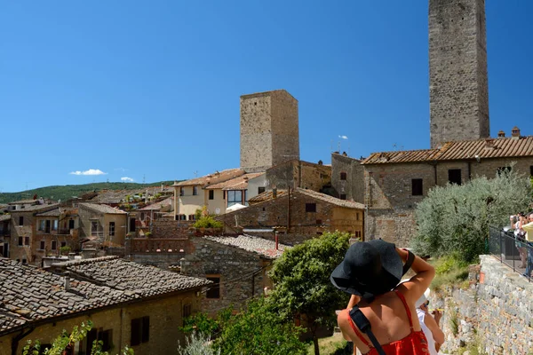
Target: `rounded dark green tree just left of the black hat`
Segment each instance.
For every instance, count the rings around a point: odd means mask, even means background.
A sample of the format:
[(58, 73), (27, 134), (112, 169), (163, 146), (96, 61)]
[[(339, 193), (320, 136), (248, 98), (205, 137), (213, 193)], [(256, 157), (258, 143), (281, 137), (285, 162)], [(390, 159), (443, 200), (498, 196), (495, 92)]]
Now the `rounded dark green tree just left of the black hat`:
[(319, 327), (334, 327), (335, 310), (346, 307), (346, 293), (330, 283), (330, 273), (343, 260), (349, 247), (348, 233), (325, 233), (286, 250), (269, 272), (274, 291), (269, 304), (282, 319), (301, 319), (313, 335), (314, 353), (319, 354)]

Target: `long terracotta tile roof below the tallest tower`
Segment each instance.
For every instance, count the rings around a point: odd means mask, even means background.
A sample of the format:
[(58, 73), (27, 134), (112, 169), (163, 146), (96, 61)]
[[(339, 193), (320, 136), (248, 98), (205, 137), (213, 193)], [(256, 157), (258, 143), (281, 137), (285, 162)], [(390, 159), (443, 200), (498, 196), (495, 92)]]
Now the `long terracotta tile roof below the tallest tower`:
[(533, 136), (484, 138), (445, 143), (441, 148), (372, 153), (362, 164), (456, 161), (533, 156)]

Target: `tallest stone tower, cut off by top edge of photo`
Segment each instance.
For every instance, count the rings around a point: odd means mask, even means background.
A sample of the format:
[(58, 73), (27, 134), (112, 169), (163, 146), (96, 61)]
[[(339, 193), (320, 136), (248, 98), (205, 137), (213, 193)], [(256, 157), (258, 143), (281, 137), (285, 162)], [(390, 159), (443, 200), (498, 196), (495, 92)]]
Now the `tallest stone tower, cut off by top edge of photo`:
[(485, 0), (429, 0), (431, 147), (488, 138)]

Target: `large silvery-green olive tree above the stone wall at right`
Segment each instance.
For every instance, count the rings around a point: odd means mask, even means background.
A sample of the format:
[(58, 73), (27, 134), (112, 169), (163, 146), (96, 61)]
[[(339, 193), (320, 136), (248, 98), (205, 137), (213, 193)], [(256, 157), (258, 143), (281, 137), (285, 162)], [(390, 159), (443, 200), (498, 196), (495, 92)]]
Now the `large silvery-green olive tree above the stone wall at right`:
[(513, 169), (464, 185), (436, 186), (418, 203), (411, 246), (419, 254), (472, 262), (486, 252), (489, 225), (501, 228), (509, 224), (510, 215), (526, 211), (531, 192), (529, 177)]

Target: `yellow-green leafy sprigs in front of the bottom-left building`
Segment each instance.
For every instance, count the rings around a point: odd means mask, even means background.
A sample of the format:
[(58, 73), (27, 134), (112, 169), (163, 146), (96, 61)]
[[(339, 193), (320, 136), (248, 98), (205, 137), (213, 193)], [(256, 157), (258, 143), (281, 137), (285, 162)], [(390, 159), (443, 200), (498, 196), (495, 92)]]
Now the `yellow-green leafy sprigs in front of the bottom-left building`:
[[(74, 326), (70, 333), (67, 333), (67, 331), (63, 329), (61, 334), (55, 338), (51, 347), (45, 349), (41, 348), (41, 343), (38, 340), (35, 342), (28, 340), (26, 346), (24, 346), (22, 355), (62, 355), (64, 351), (72, 348), (75, 343), (82, 341), (87, 336), (87, 333), (89, 333), (91, 328), (92, 322), (91, 320), (87, 320), (87, 323), (83, 322), (79, 327)], [(92, 343), (91, 355), (109, 355), (107, 351), (102, 351), (102, 345), (102, 341), (95, 340)], [(121, 355), (133, 354), (133, 349), (131, 349), (128, 345), (124, 346), (123, 350), (121, 351)]]

